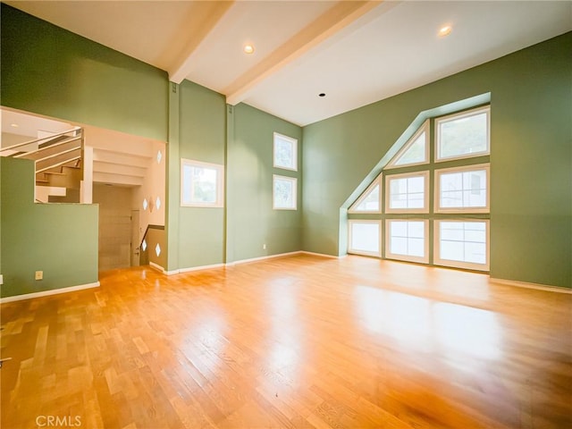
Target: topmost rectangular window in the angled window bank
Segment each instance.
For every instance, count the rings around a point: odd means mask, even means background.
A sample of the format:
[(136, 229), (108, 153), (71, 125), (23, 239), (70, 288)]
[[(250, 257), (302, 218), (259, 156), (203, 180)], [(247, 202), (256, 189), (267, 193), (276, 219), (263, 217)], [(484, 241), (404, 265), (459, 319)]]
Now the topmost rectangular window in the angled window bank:
[(437, 161), (484, 156), (490, 153), (489, 106), (435, 120)]

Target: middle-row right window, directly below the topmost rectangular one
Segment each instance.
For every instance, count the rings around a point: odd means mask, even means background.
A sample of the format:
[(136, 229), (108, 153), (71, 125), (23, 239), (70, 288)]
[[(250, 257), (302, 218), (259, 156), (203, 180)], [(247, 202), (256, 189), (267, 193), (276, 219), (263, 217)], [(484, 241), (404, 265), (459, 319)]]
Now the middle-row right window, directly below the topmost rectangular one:
[(489, 164), (435, 171), (435, 212), (488, 213)]

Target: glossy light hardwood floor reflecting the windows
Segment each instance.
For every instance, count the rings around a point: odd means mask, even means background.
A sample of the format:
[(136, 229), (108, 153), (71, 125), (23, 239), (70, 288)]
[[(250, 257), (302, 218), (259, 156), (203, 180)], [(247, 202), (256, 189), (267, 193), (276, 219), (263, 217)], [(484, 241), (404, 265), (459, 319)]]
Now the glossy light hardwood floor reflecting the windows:
[(307, 255), (100, 282), (2, 305), (4, 429), (572, 427), (569, 294)]

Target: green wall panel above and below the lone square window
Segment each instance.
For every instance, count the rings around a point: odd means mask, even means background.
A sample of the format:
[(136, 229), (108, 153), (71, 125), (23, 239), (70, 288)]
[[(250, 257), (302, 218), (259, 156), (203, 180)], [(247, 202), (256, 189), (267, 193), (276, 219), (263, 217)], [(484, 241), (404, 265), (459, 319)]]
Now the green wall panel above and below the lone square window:
[[(221, 94), (183, 80), (179, 87), (179, 156), (204, 163), (224, 164), (226, 102)], [(171, 163), (170, 163), (171, 164)], [(180, 164), (177, 166), (180, 169)], [(178, 189), (181, 183), (170, 183)], [(179, 207), (178, 268), (224, 262), (224, 208)]]

